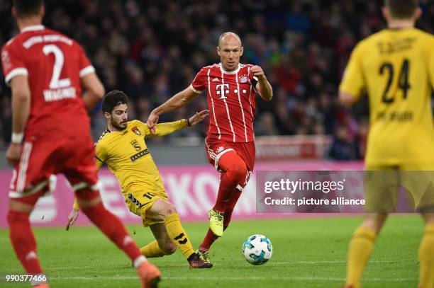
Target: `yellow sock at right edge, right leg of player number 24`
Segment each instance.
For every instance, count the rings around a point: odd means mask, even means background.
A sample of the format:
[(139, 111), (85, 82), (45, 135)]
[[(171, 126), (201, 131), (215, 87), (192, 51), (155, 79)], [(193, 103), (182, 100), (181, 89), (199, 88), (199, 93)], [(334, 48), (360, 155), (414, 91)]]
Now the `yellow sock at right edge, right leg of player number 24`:
[(434, 224), (425, 227), (419, 246), (419, 285), (421, 288), (434, 287)]

